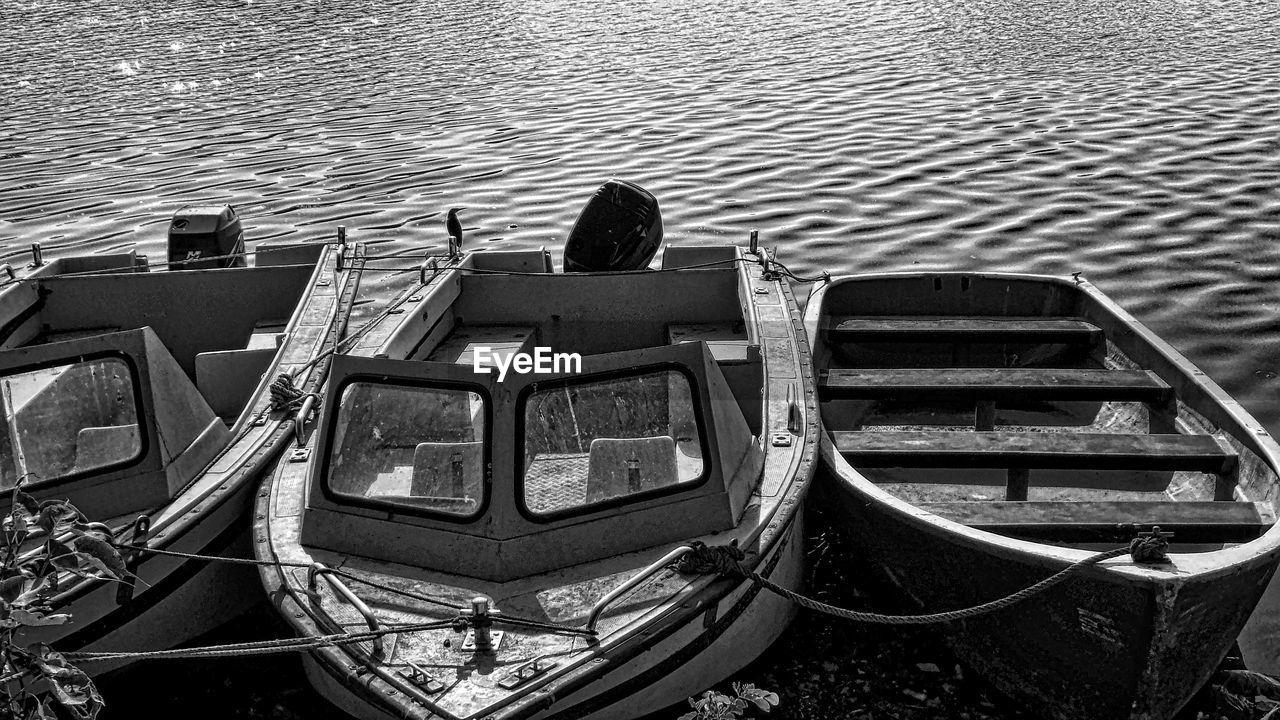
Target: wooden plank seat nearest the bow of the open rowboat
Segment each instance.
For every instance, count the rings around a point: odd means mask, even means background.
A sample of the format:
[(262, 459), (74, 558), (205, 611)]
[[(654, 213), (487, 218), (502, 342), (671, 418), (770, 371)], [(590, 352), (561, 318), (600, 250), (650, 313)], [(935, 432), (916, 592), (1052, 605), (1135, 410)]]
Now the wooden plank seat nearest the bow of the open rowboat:
[(995, 501), (916, 507), (978, 528), (1037, 541), (1126, 542), (1158, 525), (1174, 542), (1248, 542), (1275, 524), (1267, 502)]

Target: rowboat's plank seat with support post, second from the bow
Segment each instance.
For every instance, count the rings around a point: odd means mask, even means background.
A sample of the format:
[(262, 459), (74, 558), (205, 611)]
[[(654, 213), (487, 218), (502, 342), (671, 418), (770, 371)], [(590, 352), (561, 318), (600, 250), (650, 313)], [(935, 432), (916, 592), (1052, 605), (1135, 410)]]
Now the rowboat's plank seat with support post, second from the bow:
[(1215, 500), (1238, 455), (1213, 436), (945, 430), (835, 430), (836, 450), (861, 468), (1006, 468), (1007, 500), (1027, 500), (1032, 469), (1194, 470), (1219, 475)]

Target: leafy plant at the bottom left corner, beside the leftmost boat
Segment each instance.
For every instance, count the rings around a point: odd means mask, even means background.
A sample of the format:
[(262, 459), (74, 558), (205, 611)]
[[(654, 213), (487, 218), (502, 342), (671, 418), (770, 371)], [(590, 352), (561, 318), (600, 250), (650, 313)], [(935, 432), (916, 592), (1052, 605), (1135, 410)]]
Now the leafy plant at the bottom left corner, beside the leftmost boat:
[(70, 621), (51, 606), (65, 589), (64, 575), (128, 575), (110, 529), (65, 500), (37, 501), (15, 487), (0, 539), (0, 719), (93, 720), (102, 697), (90, 676), (49, 646), (23, 647), (18, 637), (27, 628)]

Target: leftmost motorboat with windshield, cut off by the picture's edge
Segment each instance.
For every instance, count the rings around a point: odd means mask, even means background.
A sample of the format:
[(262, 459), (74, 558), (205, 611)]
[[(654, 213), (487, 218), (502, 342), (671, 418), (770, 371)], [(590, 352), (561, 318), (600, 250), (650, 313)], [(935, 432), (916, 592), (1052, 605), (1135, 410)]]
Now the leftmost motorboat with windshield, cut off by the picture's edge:
[(157, 269), (129, 251), (4, 283), (0, 502), (20, 480), (137, 548), (123, 552), (124, 583), (63, 577), (50, 612), (70, 623), (24, 628), (23, 646), (164, 650), (261, 600), (252, 568), (160, 552), (251, 555), (253, 488), (298, 413), (273, 406), (271, 383), (288, 373), (300, 392), (319, 387), (348, 309), (340, 281), (358, 279), (338, 272), (339, 252), (261, 243), (250, 266)]

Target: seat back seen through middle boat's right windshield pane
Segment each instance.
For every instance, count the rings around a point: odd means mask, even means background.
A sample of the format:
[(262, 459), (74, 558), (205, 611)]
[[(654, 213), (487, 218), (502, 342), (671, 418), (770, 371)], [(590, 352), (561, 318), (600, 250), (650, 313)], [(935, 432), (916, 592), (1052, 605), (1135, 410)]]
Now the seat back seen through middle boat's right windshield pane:
[(671, 436), (595, 438), (588, 456), (586, 502), (600, 502), (678, 482)]

